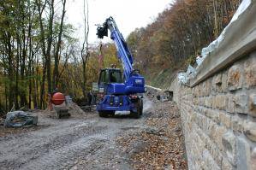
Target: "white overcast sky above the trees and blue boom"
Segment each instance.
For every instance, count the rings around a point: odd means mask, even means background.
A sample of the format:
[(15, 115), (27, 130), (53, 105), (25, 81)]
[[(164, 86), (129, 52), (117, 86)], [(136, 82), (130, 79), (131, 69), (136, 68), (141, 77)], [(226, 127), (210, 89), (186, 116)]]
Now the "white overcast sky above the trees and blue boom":
[[(172, 0), (88, 0), (89, 3), (89, 43), (99, 40), (96, 37), (97, 26), (106, 18), (113, 16), (124, 38), (136, 27), (151, 23), (158, 13), (169, 7)], [(83, 0), (67, 1), (66, 19), (78, 31), (77, 38), (82, 40), (83, 30)]]

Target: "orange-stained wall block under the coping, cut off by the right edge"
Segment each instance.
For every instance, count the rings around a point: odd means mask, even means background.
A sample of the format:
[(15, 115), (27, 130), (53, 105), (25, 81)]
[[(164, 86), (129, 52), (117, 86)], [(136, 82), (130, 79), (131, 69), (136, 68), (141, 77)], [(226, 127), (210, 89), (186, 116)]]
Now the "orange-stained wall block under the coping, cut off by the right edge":
[(247, 88), (256, 85), (256, 54), (254, 53), (245, 63), (245, 86)]

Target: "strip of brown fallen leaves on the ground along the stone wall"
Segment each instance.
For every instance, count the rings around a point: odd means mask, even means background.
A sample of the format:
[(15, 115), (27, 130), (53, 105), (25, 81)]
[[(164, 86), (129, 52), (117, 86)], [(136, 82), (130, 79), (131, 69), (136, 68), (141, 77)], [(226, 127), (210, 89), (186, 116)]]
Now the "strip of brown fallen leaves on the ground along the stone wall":
[(146, 129), (116, 138), (116, 143), (134, 169), (188, 169), (181, 123), (173, 103), (158, 103)]

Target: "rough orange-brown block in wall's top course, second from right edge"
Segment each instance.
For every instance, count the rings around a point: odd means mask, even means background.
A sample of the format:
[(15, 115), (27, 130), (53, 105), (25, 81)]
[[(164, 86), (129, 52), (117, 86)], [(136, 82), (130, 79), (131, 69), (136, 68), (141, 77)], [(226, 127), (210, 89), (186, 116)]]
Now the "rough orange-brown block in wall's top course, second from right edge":
[(235, 91), (242, 87), (242, 67), (241, 64), (233, 65), (229, 68), (228, 73), (228, 89), (229, 91)]

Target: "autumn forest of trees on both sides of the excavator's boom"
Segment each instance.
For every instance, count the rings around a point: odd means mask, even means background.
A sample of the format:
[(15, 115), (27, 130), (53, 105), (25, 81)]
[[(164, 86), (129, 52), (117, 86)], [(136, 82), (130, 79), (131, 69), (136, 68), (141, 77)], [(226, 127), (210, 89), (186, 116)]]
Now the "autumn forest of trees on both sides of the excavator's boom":
[[(118, 63), (114, 44), (90, 44), (88, 2), (83, 42), (66, 20), (67, 0), (0, 2), (0, 112), (45, 108), (54, 90), (85, 98), (98, 70)], [(150, 84), (165, 69), (194, 62), (229, 24), (239, 0), (176, 0), (146, 27), (127, 38), (136, 67)], [(95, 36), (96, 38), (96, 36)], [(101, 46), (99, 50), (99, 46)]]

